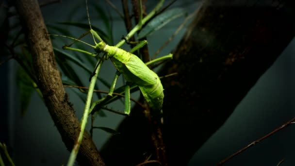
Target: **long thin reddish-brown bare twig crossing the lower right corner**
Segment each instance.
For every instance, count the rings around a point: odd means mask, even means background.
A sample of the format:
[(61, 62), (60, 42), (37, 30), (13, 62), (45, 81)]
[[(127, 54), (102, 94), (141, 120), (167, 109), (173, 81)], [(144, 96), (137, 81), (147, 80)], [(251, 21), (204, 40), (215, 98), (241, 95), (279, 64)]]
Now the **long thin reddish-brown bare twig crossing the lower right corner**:
[(245, 151), (246, 149), (252, 147), (253, 145), (259, 143), (260, 141), (262, 141), (263, 139), (269, 137), (270, 135), (274, 134), (274, 133), (277, 133), (279, 132), (279, 130), (283, 129), (284, 127), (288, 126), (289, 124), (292, 124), (293, 122), (295, 121), (295, 117), (292, 118), (290, 121), (288, 121), (287, 123), (281, 125), (278, 129), (262, 136), (261, 138), (259, 138), (258, 140), (256, 141), (253, 141), (251, 144), (247, 145), (246, 147), (244, 147), (243, 149), (240, 149), (239, 151), (235, 152), (234, 154), (230, 155), (229, 157), (227, 157), (226, 159), (222, 160), (221, 162), (219, 162), (216, 166), (221, 166), (223, 164), (225, 164), (227, 161), (229, 161), (229, 159), (233, 158), (234, 156), (242, 153), (243, 151)]

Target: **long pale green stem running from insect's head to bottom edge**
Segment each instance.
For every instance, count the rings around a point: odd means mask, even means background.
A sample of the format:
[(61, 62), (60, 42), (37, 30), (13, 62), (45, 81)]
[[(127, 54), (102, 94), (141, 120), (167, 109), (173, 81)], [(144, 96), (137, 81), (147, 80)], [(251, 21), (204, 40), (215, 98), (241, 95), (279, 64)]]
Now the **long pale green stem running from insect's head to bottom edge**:
[[(100, 61), (98, 61), (98, 63), (99, 62)], [(99, 73), (99, 70), (100, 70), (100, 66), (102, 65), (102, 63), (103, 63), (103, 61), (101, 61), (101, 63), (98, 65), (94, 76), (91, 78), (91, 82), (90, 82), (89, 90), (88, 90), (88, 94), (87, 94), (87, 99), (86, 99), (86, 103), (85, 103), (84, 113), (83, 113), (83, 117), (82, 117), (82, 120), (81, 120), (81, 130), (80, 130), (80, 133), (79, 133), (79, 136), (78, 136), (78, 140), (75, 143), (74, 148), (71, 151), (67, 166), (73, 166), (74, 162), (75, 162), (75, 160), (77, 158), (77, 154), (78, 154), (81, 142), (82, 142), (85, 126), (86, 126), (86, 123), (87, 123), (87, 118), (88, 118), (88, 114), (89, 114), (89, 108), (90, 108), (90, 105), (91, 105), (93, 90), (94, 90), (95, 83), (96, 83), (96, 80), (98, 78), (98, 73)]]

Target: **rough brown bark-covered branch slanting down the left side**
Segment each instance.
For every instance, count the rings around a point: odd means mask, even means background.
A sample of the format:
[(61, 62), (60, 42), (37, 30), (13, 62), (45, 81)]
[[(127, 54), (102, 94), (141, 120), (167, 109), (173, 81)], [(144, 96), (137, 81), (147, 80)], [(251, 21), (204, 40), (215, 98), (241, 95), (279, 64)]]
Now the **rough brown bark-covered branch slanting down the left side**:
[[(33, 57), (33, 68), (45, 104), (66, 148), (71, 151), (80, 130), (57, 69), (51, 41), (37, 0), (16, 0), (16, 10)], [(90, 134), (84, 132), (77, 158), (81, 166), (104, 166)], [(66, 161), (65, 161), (66, 162)]]

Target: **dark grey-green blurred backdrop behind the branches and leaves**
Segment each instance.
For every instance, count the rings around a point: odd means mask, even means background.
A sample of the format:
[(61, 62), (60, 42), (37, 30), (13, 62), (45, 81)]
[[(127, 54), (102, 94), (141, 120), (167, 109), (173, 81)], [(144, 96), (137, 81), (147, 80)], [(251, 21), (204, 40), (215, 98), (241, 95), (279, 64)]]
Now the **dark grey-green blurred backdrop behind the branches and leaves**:
[[(99, 4), (105, 5), (104, 2), (99, 2)], [(151, 2), (151, 4), (153, 3)], [(197, 8), (198, 4), (195, 1), (183, 0), (177, 1), (174, 6), (185, 7), (189, 12), (192, 12)], [(77, 8), (77, 5), (80, 5), (80, 7)], [(120, 1), (115, 5), (121, 9)], [(47, 23), (64, 21), (69, 17), (72, 20), (85, 19), (83, 1), (74, 3), (73, 1), (64, 0), (62, 3), (42, 7), (41, 9)], [(73, 9), (75, 9), (74, 12)], [(115, 21), (114, 36), (115, 41), (118, 41), (119, 38), (116, 38), (116, 36), (126, 34), (126, 30), (123, 22), (117, 17), (116, 13), (111, 8), (108, 9), (108, 11), (111, 11), (113, 20)], [(90, 17), (92, 14), (94, 15), (90, 11)], [(13, 17), (12, 19), (17, 20), (17, 17)], [(154, 52), (157, 50), (177, 29), (182, 20), (183, 17), (177, 19), (167, 25), (164, 30), (149, 37), (150, 51)], [(92, 24), (99, 26), (101, 22), (93, 21)], [(75, 29), (73, 31), (75, 37), (82, 34), (82, 32), (75, 32)], [(183, 32), (184, 30), (169, 44), (169, 48), (161, 52), (161, 55), (165, 55), (173, 50)], [(62, 45), (60, 44), (58, 46)], [(220, 160), (278, 128), (295, 116), (295, 90), (292, 86), (295, 83), (294, 46), (295, 41), (293, 40), (282, 52), (277, 61), (252, 87), (225, 124), (196, 152), (189, 166), (215, 165)], [(3, 140), (6, 142), (17, 166), (56, 166), (65, 164), (69, 152), (66, 150), (61, 136), (49, 116), (47, 108), (37, 93), (33, 93), (27, 114), (24, 117), (20, 116), (19, 93), (15, 85), (16, 67), (17, 64), (14, 60), (0, 66), (1, 77), (3, 79), (0, 82), (1, 105), (3, 109), (0, 119), (1, 142)], [(105, 72), (104, 75), (112, 79), (113, 74), (115, 74), (114, 71), (115, 69), (110, 71), (111, 73)], [(87, 83), (87, 79), (85, 83)], [(70, 100), (74, 103), (74, 108), (80, 118), (84, 105), (71, 90), (66, 90), (70, 94)], [(121, 108), (120, 105), (117, 107), (119, 109)], [(107, 115), (108, 117), (98, 118), (96, 123), (100, 126), (115, 129), (122, 120), (122, 116), (112, 113), (107, 113)], [(7, 128), (4, 123), (7, 123)], [(194, 131), (194, 126), (190, 126), (190, 128), (192, 128), (192, 132), (197, 133), (197, 131)], [(282, 166), (294, 165), (295, 143), (293, 140), (295, 136), (292, 134), (293, 128), (294, 126), (291, 125), (254, 147), (247, 149), (231, 159), (226, 166), (273, 166), (277, 165), (282, 159), (285, 159)], [(103, 142), (108, 139), (110, 134), (96, 131), (94, 136), (98, 148), (101, 148)], [(181, 144), (181, 142), (176, 144)]]

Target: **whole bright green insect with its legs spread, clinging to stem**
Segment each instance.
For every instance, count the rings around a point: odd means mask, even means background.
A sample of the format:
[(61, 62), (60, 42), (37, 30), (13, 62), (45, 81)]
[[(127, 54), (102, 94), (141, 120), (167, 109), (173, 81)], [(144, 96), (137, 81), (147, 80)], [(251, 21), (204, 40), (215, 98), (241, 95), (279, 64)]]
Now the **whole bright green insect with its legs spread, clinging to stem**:
[[(163, 93), (163, 86), (158, 75), (154, 71), (149, 69), (148, 66), (145, 63), (143, 63), (140, 58), (138, 58), (136, 55), (131, 53), (134, 51), (134, 49), (131, 50), (130, 52), (127, 52), (118, 47), (107, 45), (100, 38), (98, 33), (92, 30), (90, 18), (88, 14), (88, 6), (86, 6), (86, 9), (87, 9), (87, 15), (88, 15), (88, 22), (90, 26), (90, 33), (93, 35), (95, 46), (92, 46), (87, 43), (85, 44), (94, 48), (94, 50), (98, 53), (99, 52), (106, 53), (105, 59), (111, 59), (111, 61), (113, 62), (114, 66), (116, 67), (118, 71), (116, 72), (113, 84), (110, 88), (109, 96), (113, 95), (116, 80), (119, 77), (119, 75), (122, 74), (128, 83), (135, 83), (139, 87), (144, 98), (147, 100), (149, 107), (152, 110), (160, 111), (163, 105), (164, 93)], [(130, 36), (130, 35), (127, 35), (127, 36)], [(95, 38), (99, 40), (99, 43), (96, 42)], [(78, 41), (77, 39), (74, 39), (74, 40)], [(145, 44), (147, 44), (146, 41), (142, 42), (141, 44), (139, 44), (139, 47), (136, 47), (136, 49), (143, 47), (143, 45)], [(75, 51), (80, 51), (87, 54), (92, 54), (90, 52), (86, 52), (85, 50), (71, 48), (68, 46), (65, 46), (63, 48), (66, 50), (75, 50)], [(172, 58), (172, 54), (169, 54), (164, 57), (158, 58), (154, 60), (153, 62), (163, 61), (165, 59), (171, 59), (171, 58)], [(124, 112), (128, 115), (130, 113), (129, 88), (130, 88), (129, 85), (126, 85)], [(100, 101), (101, 100), (99, 100), (99, 102)], [(95, 103), (99, 103), (99, 102), (95, 102)], [(95, 104), (92, 105), (92, 108), (90, 109), (89, 113), (91, 113), (94, 106)]]

